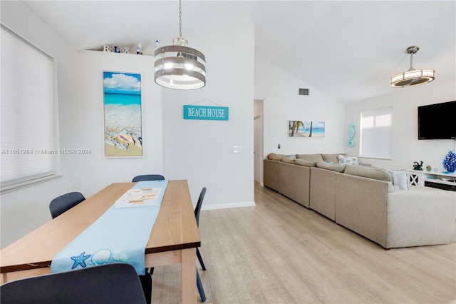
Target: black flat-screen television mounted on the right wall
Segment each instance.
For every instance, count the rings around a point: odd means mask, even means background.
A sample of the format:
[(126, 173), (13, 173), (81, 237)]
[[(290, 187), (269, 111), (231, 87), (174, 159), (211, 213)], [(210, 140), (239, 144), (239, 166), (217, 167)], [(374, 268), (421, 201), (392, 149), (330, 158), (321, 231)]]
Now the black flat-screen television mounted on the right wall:
[(456, 101), (419, 106), (418, 139), (456, 139)]

